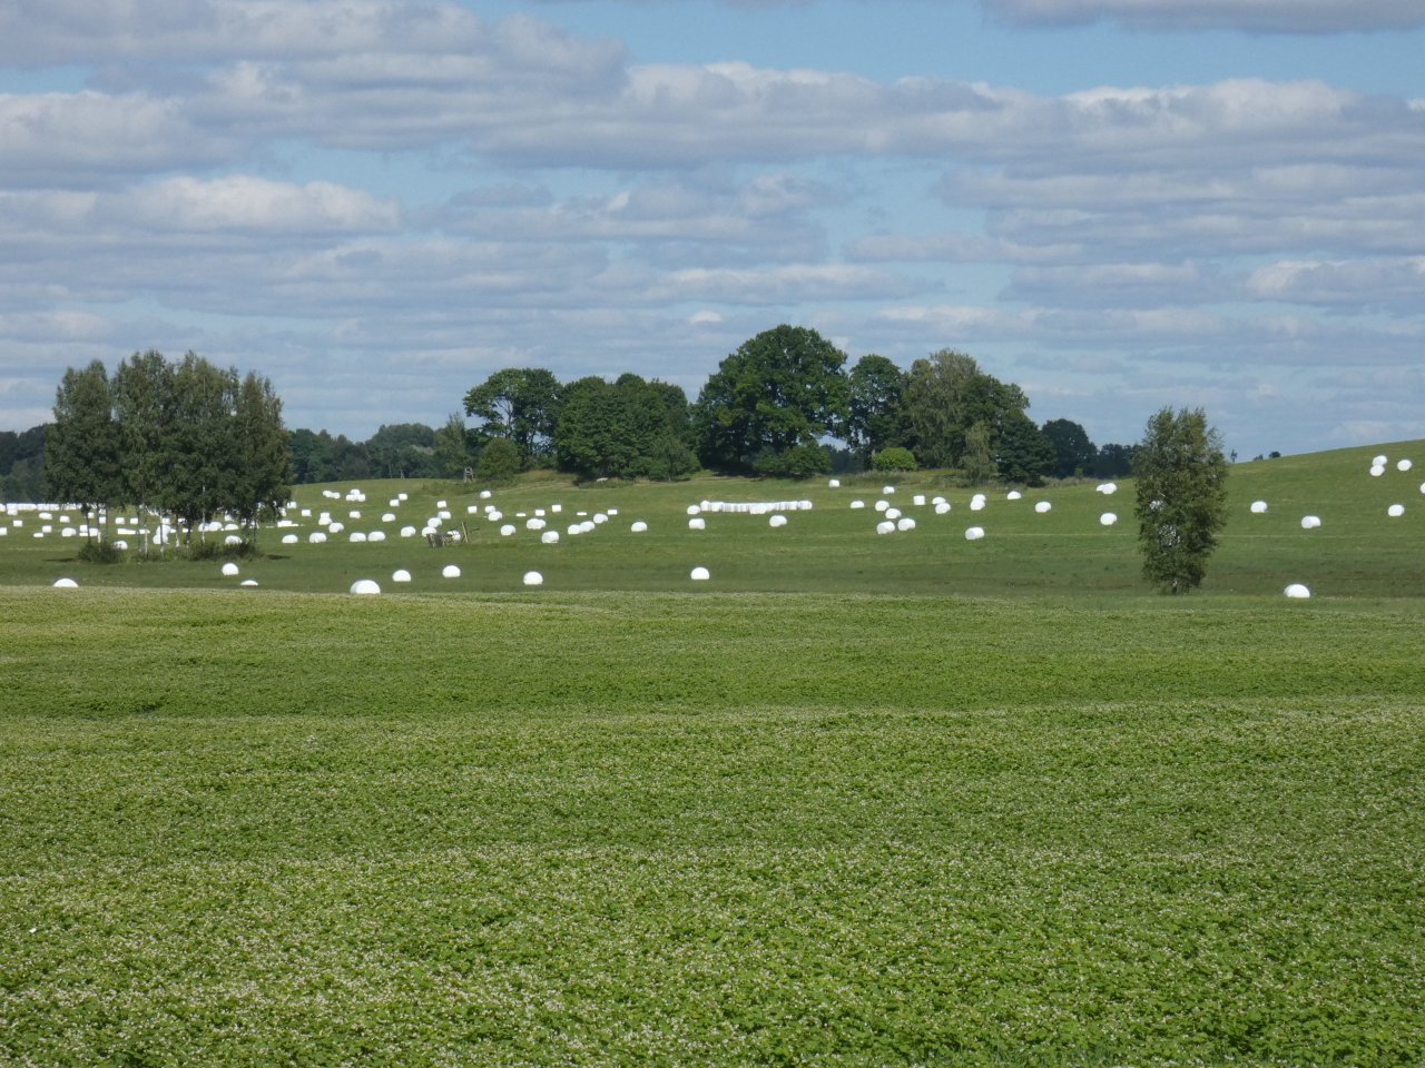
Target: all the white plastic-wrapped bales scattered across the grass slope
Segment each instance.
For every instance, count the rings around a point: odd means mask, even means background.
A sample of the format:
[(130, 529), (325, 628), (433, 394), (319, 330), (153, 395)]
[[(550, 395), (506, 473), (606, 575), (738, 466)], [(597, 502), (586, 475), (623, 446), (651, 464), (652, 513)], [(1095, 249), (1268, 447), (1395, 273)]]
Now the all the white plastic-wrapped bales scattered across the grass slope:
[[(1377, 456), (1371, 461), (1371, 477), (1379, 478), (1385, 474), (1388, 460), (1385, 456)], [(1398, 460), (1395, 468), (1398, 471), (1409, 471), (1412, 468), (1411, 460)], [(829, 488), (841, 488), (841, 483), (836, 478), (829, 480)], [(1114, 483), (1100, 483), (1097, 493), (1104, 496), (1113, 496), (1117, 491)], [(1425, 483), (1421, 484), (1421, 493), (1425, 494)], [(875, 531), (876, 534), (895, 534), (906, 533), (916, 528), (916, 520), (913, 515), (908, 515), (902, 508), (891, 503), (891, 497), (895, 496), (895, 486), (884, 486), (882, 496), (872, 503), (872, 510), (878, 515)], [(366, 494), (359, 488), (351, 488), (345, 496), (335, 490), (323, 490), (323, 498), (332, 501), (341, 501), (346, 506), (365, 506)], [(513, 521), (506, 521), (504, 513), (497, 504), (493, 503), (493, 493), (490, 490), (480, 490), (479, 503), (470, 504), (466, 508), (466, 514), (475, 518), (483, 518), (487, 524), (499, 524), (500, 537), (514, 537), (520, 524)], [(382, 524), (399, 523), (396, 511), (408, 503), (409, 497), (405, 493), (399, 493), (389, 498), (386, 510), (382, 511)], [(1009, 490), (1005, 494), (1006, 501), (1023, 500), (1023, 494), (1019, 490)], [(985, 493), (976, 493), (970, 497), (969, 510), (972, 513), (985, 511), (989, 506), (989, 497)], [(913, 494), (911, 498), (911, 507), (915, 508), (932, 508), (935, 515), (946, 515), (952, 511), (949, 500), (943, 496), (936, 496), (928, 498), (926, 494)], [(1053, 510), (1053, 504), (1049, 500), (1039, 500), (1035, 503), (1036, 514), (1046, 514)], [(787, 525), (787, 513), (809, 511), (812, 508), (812, 501), (809, 500), (779, 500), (779, 501), (712, 501), (704, 500), (697, 504), (690, 504), (687, 507), (688, 515), (688, 530), (698, 531), (707, 528), (707, 515), (710, 514), (745, 514), (745, 515), (767, 515), (768, 524), (774, 528), (782, 528)], [(866, 508), (866, 501), (855, 498), (849, 503), (852, 510)], [(338, 508), (339, 510), (339, 508)], [(1255, 500), (1251, 503), (1250, 511), (1255, 515), (1264, 514), (1268, 510), (1268, 504), (1264, 500)], [(73, 508), (71, 508), (73, 511)], [(314, 523), (318, 528), (306, 534), (306, 541), (314, 545), (325, 544), (331, 537), (346, 535), (346, 540), (352, 544), (361, 543), (382, 543), (386, 540), (386, 531), (380, 527), (368, 530), (348, 530), (348, 523), (356, 524), (362, 520), (362, 508), (348, 507), (346, 514), (342, 518), (336, 518), (331, 510), (318, 510), (318, 514), (312, 515), (312, 508), (304, 508), (296, 504), (296, 501), (289, 501), (286, 508), (278, 518), (278, 528), (285, 530), (282, 535), (282, 544), (294, 545), (301, 541), (301, 535), (295, 533), (294, 528), (302, 525), (302, 520)], [(551, 528), (551, 523), (557, 523), (563, 513), (561, 504), (550, 504), (544, 508), (533, 508), (532, 511), (517, 511), (513, 514), (513, 520), (523, 521), (523, 528), (530, 533), (537, 533), (540, 535), (540, 543), (546, 545), (557, 544), (560, 540), (560, 531)], [(87, 537), (91, 530), (88, 524), (80, 517), (77, 521), (70, 515), (63, 506), (57, 504), (6, 504), (4, 514), (9, 520), (7, 524), (0, 523), (0, 535), (7, 535), (10, 530), (21, 530), (26, 525), (27, 518), (38, 520), (38, 530), (33, 531), (36, 538), (50, 537), (54, 533), (56, 524), (58, 524), (58, 533), (63, 538), (73, 537)], [(296, 515), (294, 518), (292, 515)], [(1405, 514), (1404, 504), (1391, 504), (1387, 508), (1387, 515), (1391, 518), (1398, 518)], [(597, 511), (590, 515), (586, 511), (579, 511), (574, 514), (574, 523), (567, 524), (564, 533), (567, 537), (579, 537), (598, 530), (607, 524), (611, 518), (618, 515), (617, 508), (607, 508), (604, 511)], [(1116, 513), (1104, 511), (1099, 515), (1099, 523), (1104, 527), (1112, 527), (1119, 520)], [(103, 524), (105, 517), (100, 514), (97, 517), (97, 524)], [(416, 537), (440, 537), (449, 541), (460, 541), (463, 534), (460, 530), (455, 530), (453, 513), (447, 501), (436, 501), (436, 511), (433, 515), (425, 517), (419, 524), (405, 523), (399, 528), (400, 538), (416, 538)], [(148, 530), (147, 524), (137, 515), (118, 517), (118, 524), (115, 533), (121, 537), (115, 540), (115, 547), (127, 548), (128, 537), (144, 537), (151, 544), (164, 545), (175, 540), (182, 534), (181, 527), (171, 525), (167, 520), (160, 517), (152, 517), (154, 524), (152, 531)], [(1318, 515), (1304, 515), (1301, 520), (1302, 530), (1315, 530), (1321, 525), (1321, 518)], [(93, 533), (98, 533), (100, 525), (95, 525)], [(235, 544), (241, 541), (241, 537), (234, 533), (238, 531), (238, 524), (231, 517), (222, 517), (221, 520), (214, 520), (212, 523), (204, 524), (198, 528), (201, 533), (224, 533), (225, 541), (228, 544)], [(637, 520), (628, 527), (633, 534), (647, 533), (648, 524), (643, 520)], [(968, 541), (979, 541), (985, 538), (985, 528), (982, 525), (969, 525), (965, 528), (965, 538)], [(221, 574), (225, 578), (235, 578), (239, 574), (239, 568), (234, 562), (227, 562), (221, 568)], [(443, 578), (459, 578), (460, 568), (457, 564), (446, 564), (442, 568)], [(690, 572), (691, 581), (708, 581), (711, 575), (705, 567), (695, 567)], [(398, 568), (392, 572), (390, 581), (395, 584), (410, 582), (410, 571), (406, 568)], [(543, 575), (539, 571), (529, 571), (523, 577), (524, 585), (542, 585), (544, 582)], [(58, 588), (73, 588), (76, 582), (70, 578), (61, 578), (54, 582)], [(256, 582), (254, 580), (244, 580), (241, 585), (254, 587)], [(352, 584), (351, 592), (353, 594), (379, 594), (380, 585), (370, 578), (362, 578)], [(1301, 582), (1292, 582), (1287, 587), (1285, 595), (1290, 598), (1308, 598), (1311, 591)]]

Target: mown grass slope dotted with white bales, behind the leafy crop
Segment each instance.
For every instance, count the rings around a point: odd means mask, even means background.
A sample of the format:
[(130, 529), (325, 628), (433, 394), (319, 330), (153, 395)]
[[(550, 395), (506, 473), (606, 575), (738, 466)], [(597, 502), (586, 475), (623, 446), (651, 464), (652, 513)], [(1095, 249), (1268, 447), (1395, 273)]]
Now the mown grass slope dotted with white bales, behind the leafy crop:
[[(1382, 477), (1372, 478), (1368, 468), (1378, 451), (1387, 453), (1392, 464)], [(1419, 459), (1421, 467), (1396, 471), (1394, 461), (1411, 456)], [(1425, 595), (1421, 478), (1425, 441), (1235, 464), (1228, 478), (1230, 521), (1208, 564), (1203, 592), (1280, 594), (1290, 582), (1305, 582), (1321, 597)], [(343, 592), (358, 578), (375, 578), (388, 592), (492, 594), (519, 591), (523, 574), (537, 570), (551, 591), (685, 591), (691, 588), (688, 572), (703, 565), (712, 574), (711, 588), (718, 591), (1153, 595), (1140, 578), (1131, 483), (1112, 497), (1096, 493), (1092, 483), (1027, 490), (1019, 501), (993, 490), (988, 507), (976, 513), (969, 510), (969, 490), (949, 487), (929, 473), (906, 476), (885, 498), (912, 515), (918, 527), (882, 537), (875, 534), (879, 515), (872, 508), (882, 497), (882, 480), (844, 481), (842, 488), (832, 490), (824, 481), (698, 478), (673, 486), (576, 487), (533, 478), (494, 494), (493, 503), (504, 513), (499, 523), (479, 514), (482, 501), (467, 486), (365, 483), (368, 503), (361, 506), (323, 498), (321, 490), (326, 487), (299, 487), (302, 507), (314, 517), (331, 511), (348, 524), (348, 531), (323, 545), (306, 541), (316, 528), (314, 518), (301, 520), (294, 531), (301, 541), (295, 545), (281, 544), (281, 533), (269, 531), (264, 535), (269, 557), (245, 562), (242, 578), (256, 580), (264, 591)], [(398, 491), (409, 493), (410, 500), (389, 508), (386, 501)], [(929, 506), (916, 507), (916, 493), (928, 498), (943, 494), (952, 511), (936, 515)], [(815, 508), (788, 513), (788, 525), (781, 530), (771, 528), (765, 515), (745, 514), (710, 514), (704, 531), (687, 525), (687, 507), (703, 500), (782, 497), (808, 498)], [(851, 510), (855, 498), (866, 507)], [(1261, 515), (1250, 511), (1250, 503), (1258, 498), (1270, 504)], [(435, 515), (439, 500), (446, 500), (452, 513), (449, 525), (466, 525), (466, 544), (430, 550), (423, 538), (399, 537), (403, 525), (419, 528)], [(1040, 500), (1050, 501), (1053, 510), (1036, 513)], [(1387, 508), (1395, 503), (1405, 506), (1405, 514), (1388, 518)], [(546, 518), (561, 540), (543, 545), (537, 533), (524, 530), (517, 513), (533, 515), (536, 508), (553, 504), (563, 510)], [(469, 514), (472, 506), (476, 515)], [(352, 510), (361, 518), (351, 518)], [(567, 534), (579, 513), (610, 510), (617, 514), (594, 533)], [(388, 511), (396, 518), (382, 523)], [(1114, 511), (1119, 523), (1100, 525), (1104, 511)], [(1302, 530), (1305, 514), (1320, 515), (1321, 528)], [(634, 520), (648, 523), (648, 533), (630, 534)], [(70, 575), (81, 585), (215, 590), (238, 581), (221, 578), (217, 562), (86, 565), (76, 560), (77, 538), (34, 538), (37, 520), (26, 523), (0, 538), (0, 584), (48, 585)], [(502, 537), (503, 523), (516, 524), (519, 533)], [(983, 527), (985, 540), (966, 541), (969, 525)], [(351, 531), (373, 530), (386, 533), (388, 540), (346, 541)], [(440, 577), (447, 562), (459, 564), (459, 580)], [(409, 587), (390, 584), (396, 568), (412, 572)]]

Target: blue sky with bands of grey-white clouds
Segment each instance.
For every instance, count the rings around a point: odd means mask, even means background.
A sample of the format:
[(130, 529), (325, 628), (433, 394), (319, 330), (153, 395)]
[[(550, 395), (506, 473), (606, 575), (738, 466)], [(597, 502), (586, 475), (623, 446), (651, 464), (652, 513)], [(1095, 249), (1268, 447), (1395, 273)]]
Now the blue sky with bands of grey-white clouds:
[(1425, 437), (1425, 0), (0, 0), (0, 429), (192, 350), (289, 427), (809, 326), (1131, 443)]

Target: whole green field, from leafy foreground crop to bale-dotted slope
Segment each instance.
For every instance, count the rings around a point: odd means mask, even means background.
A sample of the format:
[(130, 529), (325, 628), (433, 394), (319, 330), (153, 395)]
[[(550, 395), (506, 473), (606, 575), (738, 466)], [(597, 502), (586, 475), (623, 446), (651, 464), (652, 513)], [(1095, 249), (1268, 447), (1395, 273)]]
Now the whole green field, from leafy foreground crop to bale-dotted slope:
[(537, 483), (618, 514), (265, 534), (256, 590), (13, 531), (0, 1065), (1419, 1064), (1425, 470), (1374, 451), (1235, 466), (1187, 598), (1130, 486), (876, 535), (879, 481)]

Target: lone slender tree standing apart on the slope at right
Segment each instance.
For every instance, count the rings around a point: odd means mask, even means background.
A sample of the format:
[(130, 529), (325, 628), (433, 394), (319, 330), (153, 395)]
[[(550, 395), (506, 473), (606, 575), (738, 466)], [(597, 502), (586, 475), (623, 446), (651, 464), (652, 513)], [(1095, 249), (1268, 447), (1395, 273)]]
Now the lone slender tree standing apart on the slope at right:
[(1186, 594), (1203, 581), (1227, 521), (1227, 457), (1201, 409), (1164, 407), (1133, 456), (1143, 577)]

